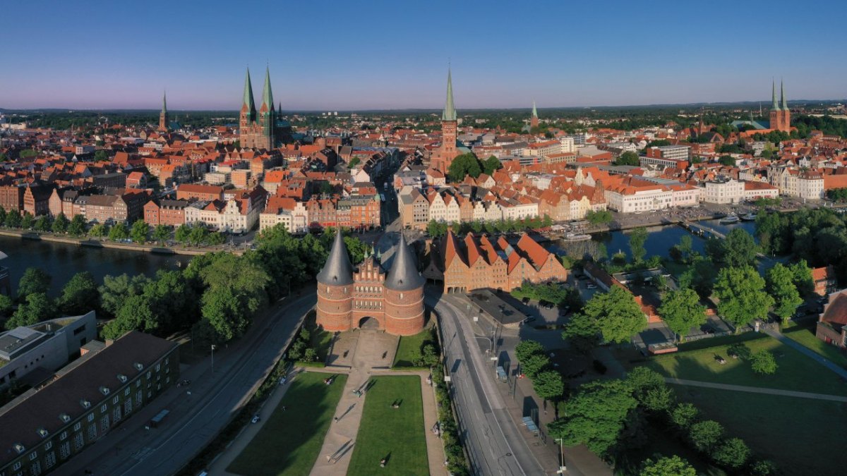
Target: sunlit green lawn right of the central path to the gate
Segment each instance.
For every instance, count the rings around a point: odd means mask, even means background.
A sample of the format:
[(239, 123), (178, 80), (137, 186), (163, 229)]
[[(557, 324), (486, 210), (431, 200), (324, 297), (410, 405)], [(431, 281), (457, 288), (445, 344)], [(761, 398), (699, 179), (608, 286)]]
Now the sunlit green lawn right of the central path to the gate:
[[(428, 475), (420, 377), (397, 375), (372, 380), (347, 475)], [(391, 407), (395, 401), (401, 402), (400, 408)], [(382, 458), (388, 460), (385, 468), (379, 468)]]

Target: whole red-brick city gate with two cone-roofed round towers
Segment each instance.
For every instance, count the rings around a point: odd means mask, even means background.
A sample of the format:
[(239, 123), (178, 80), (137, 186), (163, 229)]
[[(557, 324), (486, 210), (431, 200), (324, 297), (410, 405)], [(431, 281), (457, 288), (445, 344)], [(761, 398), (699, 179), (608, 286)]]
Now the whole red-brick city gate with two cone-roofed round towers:
[(354, 270), (340, 231), (318, 273), (317, 323), (330, 332), (357, 329), (371, 319), (392, 335), (424, 329), (424, 277), (401, 234), (388, 273), (379, 254)]

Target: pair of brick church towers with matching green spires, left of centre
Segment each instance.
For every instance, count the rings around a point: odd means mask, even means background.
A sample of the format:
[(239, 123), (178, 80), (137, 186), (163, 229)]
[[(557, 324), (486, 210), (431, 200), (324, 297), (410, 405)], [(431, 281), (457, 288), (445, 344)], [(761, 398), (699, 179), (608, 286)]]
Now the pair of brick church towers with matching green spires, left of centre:
[(265, 69), (265, 82), (262, 90), (262, 106), (256, 110), (253, 102), (253, 86), (250, 82), (250, 69), (244, 80), (244, 99), (238, 120), (238, 140), (241, 147), (271, 149), (276, 145), (277, 113), (274, 109), (274, 94), (270, 87), (270, 71)]

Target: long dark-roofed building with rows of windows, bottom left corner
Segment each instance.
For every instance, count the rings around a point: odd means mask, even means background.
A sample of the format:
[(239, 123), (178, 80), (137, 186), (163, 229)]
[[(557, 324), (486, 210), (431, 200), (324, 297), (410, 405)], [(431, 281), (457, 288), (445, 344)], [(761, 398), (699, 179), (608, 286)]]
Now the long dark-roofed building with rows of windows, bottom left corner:
[(178, 345), (131, 331), (0, 408), (0, 474), (48, 473), (172, 385)]

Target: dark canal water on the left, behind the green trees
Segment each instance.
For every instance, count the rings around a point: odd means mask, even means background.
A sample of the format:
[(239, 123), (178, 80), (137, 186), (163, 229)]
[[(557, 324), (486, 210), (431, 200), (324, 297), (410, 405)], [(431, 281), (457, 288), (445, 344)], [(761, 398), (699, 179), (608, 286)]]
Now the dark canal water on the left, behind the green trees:
[(80, 271), (90, 272), (97, 283), (102, 284), (103, 276), (107, 274), (152, 276), (159, 269), (176, 269), (178, 262), (185, 266), (191, 260), (190, 256), (91, 248), (52, 241), (22, 240), (11, 236), (0, 236), (0, 251), (8, 255), (0, 261), (0, 266), (9, 268), (13, 293), (26, 268), (42, 268), (53, 276), (50, 285), (50, 296), (53, 297), (58, 297), (64, 284)]

